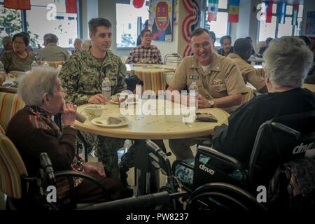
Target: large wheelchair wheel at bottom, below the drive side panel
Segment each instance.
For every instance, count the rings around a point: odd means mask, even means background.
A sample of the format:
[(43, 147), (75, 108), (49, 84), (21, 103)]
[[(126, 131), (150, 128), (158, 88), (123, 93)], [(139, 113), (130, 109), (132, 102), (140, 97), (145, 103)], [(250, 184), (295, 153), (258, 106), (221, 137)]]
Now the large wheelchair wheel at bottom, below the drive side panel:
[(267, 210), (253, 195), (229, 183), (207, 183), (190, 194), (190, 209)]

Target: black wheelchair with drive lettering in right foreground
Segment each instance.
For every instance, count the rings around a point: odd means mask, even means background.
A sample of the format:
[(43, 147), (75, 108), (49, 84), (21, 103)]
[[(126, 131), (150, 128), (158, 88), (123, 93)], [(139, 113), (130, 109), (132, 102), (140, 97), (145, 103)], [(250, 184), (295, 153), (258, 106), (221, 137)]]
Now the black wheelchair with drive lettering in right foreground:
[[(297, 113), (274, 118), (263, 123), (255, 138), (248, 164), (201, 144), (197, 148), (195, 161), (175, 161), (171, 167), (167, 155), (152, 141), (146, 146), (151, 150), (149, 157), (155, 169), (167, 176), (167, 184), (159, 193), (127, 198), (113, 202), (94, 204), (85, 209), (172, 209), (207, 211), (265, 211), (273, 209), (314, 209), (315, 204), (315, 111)], [(288, 180), (278, 186), (282, 192), (269, 188), (267, 200), (258, 202), (258, 187), (268, 188), (274, 173), (283, 171), (287, 164), (309, 161), (307, 191), (300, 197), (298, 207), (290, 207), (290, 197), (278, 197), (288, 189)], [(302, 164), (304, 165), (304, 164)], [(303, 168), (302, 168), (303, 169)], [(300, 172), (303, 174), (303, 172)], [(184, 178), (190, 176), (190, 179)], [(290, 176), (289, 176), (290, 177)], [(282, 178), (280, 178), (282, 179)], [(304, 182), (303, 182), (304, 181)], [(273, 194), (273, 195), (272, 195)]]

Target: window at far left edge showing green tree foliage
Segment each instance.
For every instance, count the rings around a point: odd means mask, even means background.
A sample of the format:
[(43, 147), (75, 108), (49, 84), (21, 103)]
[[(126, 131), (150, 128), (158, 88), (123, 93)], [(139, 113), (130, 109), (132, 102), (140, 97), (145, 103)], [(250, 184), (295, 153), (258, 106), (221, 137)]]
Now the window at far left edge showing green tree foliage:
[[(0, 0), (0, 38), (13, 36), (22, 31), (21, 10), (13, 10), (3, 7), (3, 0)], [(0, 41), (0, 48), (2, 48)]]

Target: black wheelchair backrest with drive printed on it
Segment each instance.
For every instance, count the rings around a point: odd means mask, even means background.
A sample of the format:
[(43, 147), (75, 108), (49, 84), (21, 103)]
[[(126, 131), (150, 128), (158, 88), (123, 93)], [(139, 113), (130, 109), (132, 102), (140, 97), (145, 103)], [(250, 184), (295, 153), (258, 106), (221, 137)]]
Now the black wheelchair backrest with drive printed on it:
[(263, 123), (249, 160), (248, 186), (268, 186), (277, 167), (307, 156), (315, 158), (315, 111)]

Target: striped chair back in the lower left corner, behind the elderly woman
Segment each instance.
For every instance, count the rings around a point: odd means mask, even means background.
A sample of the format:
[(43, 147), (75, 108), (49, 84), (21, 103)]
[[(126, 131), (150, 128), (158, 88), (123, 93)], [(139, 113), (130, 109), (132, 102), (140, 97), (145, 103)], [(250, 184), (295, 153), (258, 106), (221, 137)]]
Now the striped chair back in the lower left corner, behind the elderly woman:
[(21, 198), (21, 176), (27, 176), (27, 169), (12, 141), (3, 134), (0, 134), (0, 170), (0, 190), (8, 197)]

